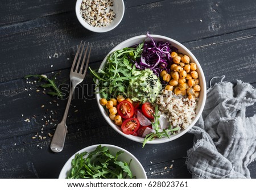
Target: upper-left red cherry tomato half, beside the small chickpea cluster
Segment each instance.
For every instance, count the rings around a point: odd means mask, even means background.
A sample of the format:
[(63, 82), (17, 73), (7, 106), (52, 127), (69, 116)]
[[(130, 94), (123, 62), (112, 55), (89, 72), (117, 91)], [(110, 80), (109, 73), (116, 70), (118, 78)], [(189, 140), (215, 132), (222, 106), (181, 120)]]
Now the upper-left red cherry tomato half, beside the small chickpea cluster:
[(131, 104), (127, 100), (123, 100), (117, 105), (117, 113), (123, 119), (133, 117), (133, 113), (134, 113), (133, 104)]

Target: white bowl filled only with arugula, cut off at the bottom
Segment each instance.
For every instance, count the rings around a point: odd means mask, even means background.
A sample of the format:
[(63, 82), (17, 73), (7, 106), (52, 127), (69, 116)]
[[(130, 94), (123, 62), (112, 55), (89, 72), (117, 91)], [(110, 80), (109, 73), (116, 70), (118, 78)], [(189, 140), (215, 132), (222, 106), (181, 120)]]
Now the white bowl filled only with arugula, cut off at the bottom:
[(114, 145), (92, 145), (77, 151), (63, 166), (59, 179), (146, 179), (142, 164)]

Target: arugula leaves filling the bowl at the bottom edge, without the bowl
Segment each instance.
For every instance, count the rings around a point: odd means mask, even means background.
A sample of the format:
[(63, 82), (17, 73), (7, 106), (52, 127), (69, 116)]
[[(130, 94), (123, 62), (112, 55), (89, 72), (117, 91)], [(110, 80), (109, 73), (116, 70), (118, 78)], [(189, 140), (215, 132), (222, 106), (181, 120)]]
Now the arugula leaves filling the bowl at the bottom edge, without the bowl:
[[(122, 153), (123, 151), (118, 151), (114, 156), (108, 147), (99, 145), (89, 154), (88, 152), (76, 154), (72, 159), (72, 169), (68, 179), (136, 178), (131, 173), (130, 163), (118, 161), (118, 156)], [(85, 157), (87, 154), (88, 157)]]

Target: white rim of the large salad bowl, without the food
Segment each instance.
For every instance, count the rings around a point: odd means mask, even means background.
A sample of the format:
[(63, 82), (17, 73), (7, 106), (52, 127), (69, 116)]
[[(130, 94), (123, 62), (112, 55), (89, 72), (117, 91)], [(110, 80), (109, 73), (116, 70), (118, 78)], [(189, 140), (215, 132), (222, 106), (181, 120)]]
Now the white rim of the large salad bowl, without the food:
[[(163, 40), (166, 40), (166, 41), (170, 41), (171, 43), (174, 43), (174, 47), (175, 47), (175, 44), (179, 45), (181, 48), (183, 48), (185, 50), (185, 52), (188, 52), (189, 53), (189, 57), (191, 58), (191, 60), (193, 60), (193, 62), (196, 63), (197, 65), (197, 70), (200, 71), (200, 75), (201, 75), (201, 79), (200, 79), (200, 83), (203, 83), (203, 87), (201, 87), (201, 92), (200, 92), (200, 96), (203, 95), (203, 100), (201, 100), (201, 107), (199, 110), (197, 110), (198, 112), (196, 113), (196, 117), (193, 118), (192, 120), (192, 123), (186, 128), (186, 129), (183, 129), (180, 133), (177, 133), (175, 134), (174, 136), (170, 136), (170, 138), (155, 138), (154, 140), (152, 141), (148, 141), (147, 144), (158, 144), (158, 143), (164, 143), (164, 142), (170, 142), (172, 140), (175, 140), (181, 136), (183, 136), (183, 134), (187, 133), (189, 129), (191, 129), (193, 127), (193, 125), (196, 124), (197, 120), (199, 120), (199, 117), (201, 116), (202, 112), (203, 112), (203, 109), (204, 109), (204, 106), (205, 106), (205, 100), (206, 100), (206, 96), (207, 96), (207, 86), (206, 86), (206, 81), (205, 81), (205, 76), (204, 76), (204, 72), (203, 72), (203, 69), (201, 67), (201, 65), (199, 64), (199, 61), (197, 61), (197, 58), (193, 55), (193, 53), (188, 49), (186, 48), (183, 44), (179, 43), (178, 41), (174, 40), (174, 39), (171, 39), (170, 37), (166, 37), (166, 36), (162, 36), (162, 35), (150, 35), (153, 39), (163, 39)], [(100, 68), (99, 69), (103, 69), (105, 64), (106, 64), (106, 60), (109, 56), (109, 54), (113, 53), (115, 50), (118, 50), (118, 49), (121, 49), (121, 47), (123, 47), (124, 44), (126, 44), (127, 42), (129, 41), (133, 41), (133, 40), (139, 40), (141, 39), (141, 41), (143, 39), (147, 39), (148, 36), (147, 35), (139, 35), (139, 36), (134, 36), (134, 37), (131, 37), (130, 39), (127, 39), (125, 41), (122, 41), (121, 43), (119, 43), (117, 46), (115, 46), (112, 50), (110, 50), (110, 52), (106, 55), (106, 57), (104, 58), (104, 60), (102, 61), (101, 65), (100, 65)], [(134, 44), (135, 45), (135, 44)], [(172, 44), (173, 45), (173, 44)], [(203, 81), (202, 81), (203, 80)], [(201, 85), (201, 84), (200, 84)], [(201, 85), (202, 86), (202, 85)], [(98, 88), (96, 90), (96, 92), (98, 91)], [(203, 91), (203, 94), (202, 94), (202, 91)], [(131, 134), (125, 134), (123, 133), (120, 129), (118, 129), (118, 126), (115, 125), (113, 123), (113, 121), (110, 121), (109, 122), (109, 116), (108, 115), (105, 115), (105, 109), (104, 107), (100, 104), (100, 94), (96, 93), (96, 100), (97, 100), (97, 104), (98, 104), (98, 107), (100, 108), (100, 111), (101, 111), (101, 114), (102, 116), (104, 117), (104, 119), (106, 120), (106, 122), (112, 126), (112, 128), (118, 132), (119, 134), (121, 134), (123, 137), (126, 137), (132, 141), (135, 141), (135, 142), (143, 142), (143, 139), (142, 137), (136, 137), (136, 136), (133, 136)]]

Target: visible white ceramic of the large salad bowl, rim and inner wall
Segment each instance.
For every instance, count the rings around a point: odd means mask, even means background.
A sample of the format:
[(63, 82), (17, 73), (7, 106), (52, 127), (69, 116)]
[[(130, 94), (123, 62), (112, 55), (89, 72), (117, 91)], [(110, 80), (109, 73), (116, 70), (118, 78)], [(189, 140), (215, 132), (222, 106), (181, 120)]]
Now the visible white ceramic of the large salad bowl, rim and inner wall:
[[(200, 91), (200, 96), (199, 96), (199, 102), (197, 103), (197, 109), (196, 109), (196, 116), (193, 118), (192, 123), (187, 127), (187, 129), (181, 130), (180, 133), (174, 134), (170, 136), (170, 138), (155, 138), (155, 140), (148, 141), (148, 144), (156, 144), (156, 143), (164, 143), (164, 142), (169, 142), (172, 140), (175, 140), (176, 138), (179, 138), (180, 136), (183, 136), (183, 134), (187, 133), (189, 129), (192, 128), (193, 125), (195, 125), (196, 121), (199, 119), (201, 113), (203, 112), (204, 105), (205, 105), (205, 99), (206, 99), (206, 93), (207, 93), (207, 87), (206, 87), (206, 82), (205, 82), (205, 77), (203, 70), (197, 61), (196, 57), (186, 48), (184, 45), (180, 44), (178, 41), (173, 40), (169, 37), (166, 36), (160, 36), (160, 35), (151, 35), (151, 37), (154, 40), (158, 41), (170, 41), (171, 45), (178, 48), (178, 52), (187, 54), (189, 58), (191, 59), (191, 62), (195, 62), (197, 65), (197, 73), (199, 74), (199, 80), (200, 80), (200, 86), (201, 86), (201, 91)], [(147, 37), (147, 35), (142, 35), (142, 36), (135, 36), (132, 37), (128, 40), (123, 41), (122, 43), (118, 44), (116, 47), (114, 47), (110, 52), (114, 52), (115, 50), (122, 49), (125, 47), (131, 47), (135, 44), (141, 43), (143, 40), (149, 41), (150, 39)], [(108, 55), (109, 55), (108, 54)], [(100, 69), (104, 69), (106, 60), (108, 58), (108, 55), (104, 58), (102, 61), (102, 64), (100, 65)], [(133, 136), (131, 134), (125, 134), (122, 132), (121, 128), (113, 123), (112, 120), (110, 120), (108, 113), (106, 112), (106, 109), (104, 106), (100, 104), (100, 94), (96, 94), (96, 99), (97, 99), (97, 104), (98, 107), (100, 108), (100, 111), (104, 117), (104, 119), (108, 122), (112, 128), (117, 131), (119, 134), (121, 134), (123, 137), (129, 138), (130, 140), (136, 141), (136, 142), (143, 142), (142, 137), (138, 136)]]

